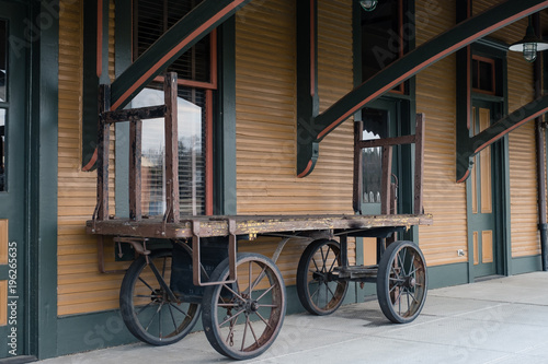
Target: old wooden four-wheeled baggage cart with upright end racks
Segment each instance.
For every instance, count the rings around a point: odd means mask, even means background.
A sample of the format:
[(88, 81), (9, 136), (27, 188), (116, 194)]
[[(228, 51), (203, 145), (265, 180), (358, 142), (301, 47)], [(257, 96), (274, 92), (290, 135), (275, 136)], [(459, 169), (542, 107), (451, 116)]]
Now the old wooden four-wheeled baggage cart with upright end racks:
[[(333, 313), (343, 302), (349, 282), (375, 282), (385, 316), (393, 322), (412, 321), (426, 297), (425, 259), (412, 242), (392, 242), (411, 226), (432, 224), (422, 211), (423, 117), (414, 136), (364, 141), (356, 122), (354, 210), (336, 215), (214, 215), (181, 216), (179, 212), (176, 75), (164, 82), (165, 105), (110, 111), (102, 86), (98, 158), (98, 207), (87, 231), (130, 244), (139, 257), (124, 277), (119, 303), (129, 331), (155, 345), (181, 340), (202, 313), (205, 334), (221, 354), (238, 359), (260, 355), (274, 342), (285, 316), (286, 291), (275, 265), (290, 239), (309, 242), (297, 267), (297, 292), (302, 306), (315, 315)], [(144, 216), (140, 201), (141, 120), (165, 120), (165, 191), (163, 216)], [(130, 122), (129, 216), (109, 214), (109, 129)], [(358, 132), (359, 130), (359, 132)], [(391, 149), (414, 143), (414, 214), (395, 213), (391, 191)], [(359, 213), (362, 149), (381, 146), (381, 214)], [(238, 240), (276, 236), (274, 257), (238, 253)], [(347, 238), (376, 237), (377, 265), (351, 266)], [(158, 242), (168, 248), (155, 249)], [(391, 243), (387, 243), (391, 242)], [(103, 262), (100, 249), (100, 265)], [(103, 266), (104, 267), (104, 266)]]

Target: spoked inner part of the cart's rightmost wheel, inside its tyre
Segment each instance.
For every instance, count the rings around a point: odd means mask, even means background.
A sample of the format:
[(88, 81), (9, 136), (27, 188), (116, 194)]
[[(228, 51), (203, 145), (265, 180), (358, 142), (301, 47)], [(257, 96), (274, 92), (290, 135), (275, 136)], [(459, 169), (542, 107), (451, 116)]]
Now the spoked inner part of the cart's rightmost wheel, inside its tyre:
[(424, 303), (426, 270), (421, 254), (403, 245), (393, 255), (388, 274), (388, 297), (391, 310), (403, 319), (416, 316)]

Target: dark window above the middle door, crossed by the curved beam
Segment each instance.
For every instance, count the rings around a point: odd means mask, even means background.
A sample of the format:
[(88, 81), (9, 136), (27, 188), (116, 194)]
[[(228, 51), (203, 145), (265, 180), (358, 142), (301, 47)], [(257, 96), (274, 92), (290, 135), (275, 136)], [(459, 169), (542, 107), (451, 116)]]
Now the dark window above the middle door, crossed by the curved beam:
[[(362, 82), (403, 56), (408, 48), (403, 35), (403, 1), (379, 1), (375, 11), (362, 14)], [(404, 83), (392, 92), (403, 94)]]

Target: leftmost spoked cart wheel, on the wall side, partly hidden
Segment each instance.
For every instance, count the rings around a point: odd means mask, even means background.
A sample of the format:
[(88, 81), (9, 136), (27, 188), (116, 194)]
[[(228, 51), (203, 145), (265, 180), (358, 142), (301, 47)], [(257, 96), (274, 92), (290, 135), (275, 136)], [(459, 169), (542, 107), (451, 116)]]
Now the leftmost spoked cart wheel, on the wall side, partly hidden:
[(135, 260), (119, 289), (122, 318), (129, 331), (152, 345), (178, 342), (199, 316), (199, 305), (181, 302), (169, 289), (171, 249), (152, 251)]

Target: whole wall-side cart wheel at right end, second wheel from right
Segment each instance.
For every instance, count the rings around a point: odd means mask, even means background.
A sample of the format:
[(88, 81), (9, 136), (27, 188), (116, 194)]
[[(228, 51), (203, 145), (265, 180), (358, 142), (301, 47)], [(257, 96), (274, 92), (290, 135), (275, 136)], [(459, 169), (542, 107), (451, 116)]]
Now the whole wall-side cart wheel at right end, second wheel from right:
[(329, 315), (341, 306), (347, 281), (333, 274), (341, 266), (341, 246), (334, 240), (311, 243), (300, 256), (297, 268), (297, 293), (302, 306), (313, 315)]

